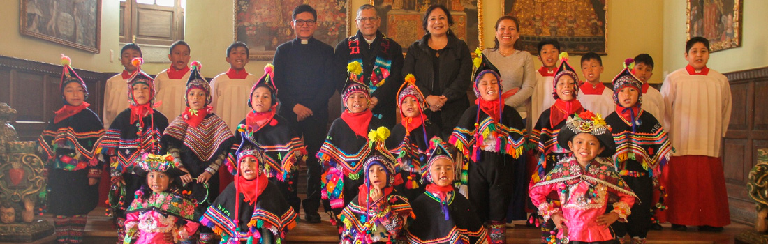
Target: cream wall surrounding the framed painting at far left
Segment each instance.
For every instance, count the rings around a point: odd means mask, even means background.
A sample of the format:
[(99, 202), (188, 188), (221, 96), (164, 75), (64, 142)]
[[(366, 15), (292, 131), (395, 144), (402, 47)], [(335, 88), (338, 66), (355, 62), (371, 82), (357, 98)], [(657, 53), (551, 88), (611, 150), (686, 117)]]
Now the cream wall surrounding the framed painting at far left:
[[(19, 2), (0, 1), (0, 9), (5, 9), (0, 15), (0, 30), (3, 33), (0, 55), (60, 64), (61, 54), (66, 54), (72, 58), (74, 68), (101, 72), (119, 71), (122, 68), (118, 61), (118, 1), (101, 1), (101, 52), (98, 54), (19, 34)], [(110, 51), (114, 51), (114, 58), (111, 58)]]

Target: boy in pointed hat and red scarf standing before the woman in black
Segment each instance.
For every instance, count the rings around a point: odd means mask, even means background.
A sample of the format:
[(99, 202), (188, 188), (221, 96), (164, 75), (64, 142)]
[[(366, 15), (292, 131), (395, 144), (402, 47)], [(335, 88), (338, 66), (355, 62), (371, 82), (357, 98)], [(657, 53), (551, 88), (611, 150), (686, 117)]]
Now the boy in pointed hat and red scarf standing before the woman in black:
[(426, 100), (415, 85), (413, 74), (406, 75), (406, 82), (398, 91), (397, 104), (400, 107), (400, 123), (392, 128), (392, 135), (386, 139), (386, 147), (397, 157), (396, 171), (406, 182), (396, 185), (400, 193), (414, 199), (424, 193), (421, 183), (422, 166), (429, 148), (429, 138), (440, 136), (440, 127), (427, 120), (423, 113)]

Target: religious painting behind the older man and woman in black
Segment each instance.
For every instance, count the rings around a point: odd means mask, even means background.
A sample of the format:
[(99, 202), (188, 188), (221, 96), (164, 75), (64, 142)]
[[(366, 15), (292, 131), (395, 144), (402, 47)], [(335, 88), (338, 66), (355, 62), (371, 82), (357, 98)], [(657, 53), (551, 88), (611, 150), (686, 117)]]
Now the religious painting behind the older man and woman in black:
[(470, 51), (482, 48), (482, 8), (478, 8), (482, 2), (477, 0), (370, 0), (369, 3), (382, 18), (379, 31), (395, 40), (404, 52), (426, 34), (422, 19), (431, 5), (444, 5), (449, 9), (453, 17), (451, 31), (467, 43)]

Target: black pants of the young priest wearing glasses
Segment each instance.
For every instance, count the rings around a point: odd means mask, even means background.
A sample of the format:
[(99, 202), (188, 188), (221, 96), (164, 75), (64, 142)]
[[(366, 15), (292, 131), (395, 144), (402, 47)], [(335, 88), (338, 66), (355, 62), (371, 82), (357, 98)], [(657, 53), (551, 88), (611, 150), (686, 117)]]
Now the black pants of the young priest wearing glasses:
[[(286, 110), (290, 109), (286, 108)], [(298, 122), (296, 121), (296, 114), (293, 114), (292, 110), (281, 113), (281, 115), (289, 121), (291, 129), (304, 138), (307, 153), (306, 199), (302, 203), (304, 204), (304, 213), (307, 216), (316, 216), (317, 209), (320, 207), (320, 176), (323, 174), (323, 167), (315, 155), (323, 146), (328, 133), (328, 108), (322, 111), (313, 111), (313, 116)], [(296, 211), (298, 210), (296, 209)]]

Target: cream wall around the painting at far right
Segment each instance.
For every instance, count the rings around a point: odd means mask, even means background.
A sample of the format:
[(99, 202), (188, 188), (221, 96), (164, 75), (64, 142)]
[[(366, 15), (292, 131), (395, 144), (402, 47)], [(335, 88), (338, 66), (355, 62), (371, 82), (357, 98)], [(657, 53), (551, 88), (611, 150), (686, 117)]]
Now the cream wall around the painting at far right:
[[(768, 1), (743, 1), (743, 36), (740, 48), (710, 54), (707, 64), (721, 73), (768, 66)], [(671, 72), (688, 64), (685, 61), (686, 2), (664, 2), (664, 71)]]

